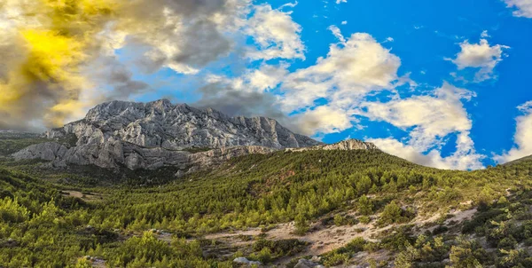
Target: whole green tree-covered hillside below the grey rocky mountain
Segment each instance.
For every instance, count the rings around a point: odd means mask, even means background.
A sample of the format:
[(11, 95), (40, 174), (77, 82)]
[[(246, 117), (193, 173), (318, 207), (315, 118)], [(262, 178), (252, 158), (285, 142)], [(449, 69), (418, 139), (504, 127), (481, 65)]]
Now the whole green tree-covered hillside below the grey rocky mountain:
[[(233, 267), (240, 256), (293, 266), (312, 256), (312, 233), (333, 228), (355, 230), (354, 240), (319, 251), (313, 261), (325, 266), (532, 264), (529, 161), (465, 172), (379, 150), (317, 150), (246, 155), (178, 178), (0, 165), (0, 266)], [(464, 210), (474, 217), (453, 221)], [(292, 222), (294, 239), (269, 234)], [(206, 239), (246, 230), (260, 233)]]

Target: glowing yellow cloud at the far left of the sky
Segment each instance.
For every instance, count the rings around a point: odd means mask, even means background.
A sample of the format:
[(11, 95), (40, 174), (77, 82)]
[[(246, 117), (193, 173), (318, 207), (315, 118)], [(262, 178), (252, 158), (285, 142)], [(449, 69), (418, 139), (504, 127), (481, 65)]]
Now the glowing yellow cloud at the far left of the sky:
[[(64, 123), (68, 114), (82, 111), (85, 107), (77, 100), (81, 91), (89, 88), (89, 79), (80, 69), (98, 56), (95, 36), (119, 6), (115, 0), (37, 0), (0, 5), (0, 12), (11, 8), (10, 13), (22, 16), (13, 20), (14, 34), (6, 39), (18, 53), (4, 59), (9, 72), (0, 77), (0, 113), (9, 116), (0, 119), (0, 125), (17, 126), (23, 123), (20, 119), (40, 115), (46, 126), (55, 127)], [(43, 110), (33, 111), (35, 104)]]

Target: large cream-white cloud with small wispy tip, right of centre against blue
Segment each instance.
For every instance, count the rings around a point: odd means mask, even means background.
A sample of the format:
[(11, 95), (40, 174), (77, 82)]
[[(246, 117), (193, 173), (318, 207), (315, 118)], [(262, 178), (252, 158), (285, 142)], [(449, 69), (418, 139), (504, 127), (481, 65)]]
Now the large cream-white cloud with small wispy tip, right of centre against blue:
[[(333, 33), (336, 28), (332, 27)], [(316, 65), (299, 69), (286, 77), (282, 85), (283, 105), (288, 112), (313, 106), (325, 98), (332, 106), (348, 109), (371, 91), (392, 88), (398, 79), (401, 59), (372, 35), (356, 33), (345, 39), (335, 33), (340, 43), (333, 43), (326, 58)], [(344, 42), (341, 42), (341, 41)]]

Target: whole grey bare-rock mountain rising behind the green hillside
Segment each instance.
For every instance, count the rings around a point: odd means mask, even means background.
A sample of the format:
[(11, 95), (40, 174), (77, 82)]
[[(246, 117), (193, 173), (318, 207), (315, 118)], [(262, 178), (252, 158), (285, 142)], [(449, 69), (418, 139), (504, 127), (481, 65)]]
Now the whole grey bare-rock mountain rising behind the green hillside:
[[(317, 146), (265, 117), (229, 117), (213, 109), (113, 101), (98, 105), (80, 121), (45, 133), (51, 139), (77, 139), (29, 146), (13, 156), (42, 159), (54, 166), (96, 165), (101, 168), (183, 169), (209, 166), (243, 154), (268, 154), (287, 147)], [(196, 153), (192, 153), (196, 152)]]

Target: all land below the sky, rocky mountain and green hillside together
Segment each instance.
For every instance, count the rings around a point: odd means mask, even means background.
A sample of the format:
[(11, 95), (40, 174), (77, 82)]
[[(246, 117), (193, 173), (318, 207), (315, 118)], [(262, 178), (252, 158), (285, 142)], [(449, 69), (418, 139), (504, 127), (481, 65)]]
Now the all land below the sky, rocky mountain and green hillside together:
[(432, 169), (267, 118), (111, 102), (0, 132), (0, 267), (532, 267), (532, 161)]

